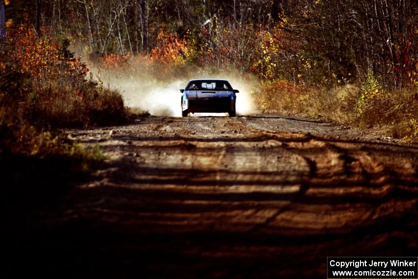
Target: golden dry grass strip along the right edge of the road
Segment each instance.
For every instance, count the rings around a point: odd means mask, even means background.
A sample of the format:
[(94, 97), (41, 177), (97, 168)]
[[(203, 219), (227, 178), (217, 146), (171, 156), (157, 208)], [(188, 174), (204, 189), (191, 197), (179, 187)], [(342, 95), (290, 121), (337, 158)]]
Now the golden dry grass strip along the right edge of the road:
[(340, 124), (376, 128), (405, 141), (418, 141), (418, 88), (378, 88), (360, 84), (332, 89), (295, 85), (288, 81), (265, 82), (253, 91), (265, 112), (281, 111)]

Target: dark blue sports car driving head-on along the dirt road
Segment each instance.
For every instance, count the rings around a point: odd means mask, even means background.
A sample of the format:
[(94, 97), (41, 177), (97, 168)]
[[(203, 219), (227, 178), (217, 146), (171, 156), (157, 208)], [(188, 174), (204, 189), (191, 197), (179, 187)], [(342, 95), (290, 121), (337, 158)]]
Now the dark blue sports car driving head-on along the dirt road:
[(238, 90), (223, 79), (194, 79), (185, 89), (180, 89), (181, 116), (195, 112), (227, 112), (235, 116), (235, 101)]

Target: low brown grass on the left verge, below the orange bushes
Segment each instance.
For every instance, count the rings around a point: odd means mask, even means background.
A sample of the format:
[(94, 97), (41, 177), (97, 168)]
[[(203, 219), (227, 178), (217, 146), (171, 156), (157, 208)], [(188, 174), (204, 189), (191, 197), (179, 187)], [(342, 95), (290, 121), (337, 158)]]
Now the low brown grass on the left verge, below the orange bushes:
[(0, 85), (0, 89), (0, 164), (5, 174), (3, 186), (12, 192), (23, 188), (20, 193), (29, 196), (34, 189), (36, 193), (54, 192), (85, 178), (103, 161), (98, 147), (85, 149), (57, 128), (124, 120), (120, 94), (108, 89), (91, 87), (74, 94), (59, 88), (27, 92), (21, 87), (4, 90)]

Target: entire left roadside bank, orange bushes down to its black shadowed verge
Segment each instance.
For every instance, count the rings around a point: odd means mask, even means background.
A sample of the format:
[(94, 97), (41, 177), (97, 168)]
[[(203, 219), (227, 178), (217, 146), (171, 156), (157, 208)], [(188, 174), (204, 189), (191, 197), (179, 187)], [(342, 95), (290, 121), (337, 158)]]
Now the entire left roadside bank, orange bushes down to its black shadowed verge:
[(127, 110), (118, 91), (89, 77), (67, 41), (37, 38), (29, 26), (7, 40), (0, 52), (0, 165), (3, 202), (13, 204), (53, 197), (105, 159), (59, 128), (121, 123)]

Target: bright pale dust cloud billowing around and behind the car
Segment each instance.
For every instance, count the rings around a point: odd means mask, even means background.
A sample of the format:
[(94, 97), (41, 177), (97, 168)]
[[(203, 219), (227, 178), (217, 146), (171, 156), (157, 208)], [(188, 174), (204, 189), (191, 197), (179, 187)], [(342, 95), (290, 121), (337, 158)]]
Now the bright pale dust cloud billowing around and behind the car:
[[(213, 74), (206, 69), (189, 70), (179, 74), (170, 69), (162, 69), (160, 72), (149, 63), (144, 65), (130, 66), (123, 71), (90, 70), (95, 73), (104, 86), (117, 89), (122, 94), (125, 105), (148, 111), (155, 116), (181, 116), (181, 93), (190, 79), (219, 78), (227, 79), (234, 89), (238, 89), (236, 110), (237, 115), (256, 113), (256, 105), (251, 90), (256, 88), (258, 80), (252, 75), (243, 75), (238, 72), (225, 72)], [(208, 114), (196, 114), (202, 116)], [(210, 114), (227, 115), (227, 114)]]

